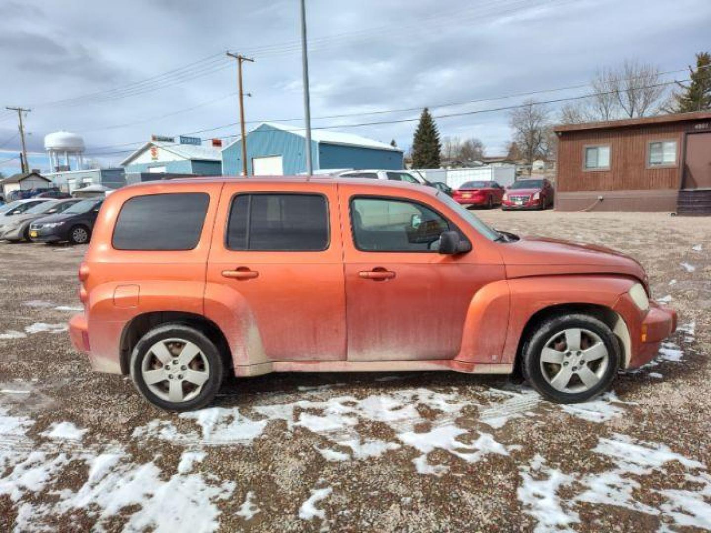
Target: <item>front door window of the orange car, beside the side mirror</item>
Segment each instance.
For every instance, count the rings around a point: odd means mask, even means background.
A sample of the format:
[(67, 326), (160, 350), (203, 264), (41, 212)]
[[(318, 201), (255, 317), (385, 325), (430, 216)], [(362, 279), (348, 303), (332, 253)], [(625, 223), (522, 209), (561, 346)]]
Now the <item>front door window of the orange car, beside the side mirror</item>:
[(426, 206), (395, 198), (353, 198), (351, 227), (363, 252), (437, 252), (449, 222)]

